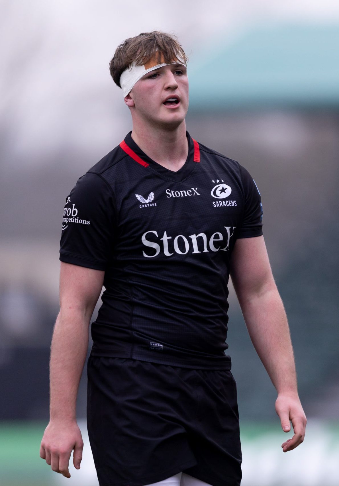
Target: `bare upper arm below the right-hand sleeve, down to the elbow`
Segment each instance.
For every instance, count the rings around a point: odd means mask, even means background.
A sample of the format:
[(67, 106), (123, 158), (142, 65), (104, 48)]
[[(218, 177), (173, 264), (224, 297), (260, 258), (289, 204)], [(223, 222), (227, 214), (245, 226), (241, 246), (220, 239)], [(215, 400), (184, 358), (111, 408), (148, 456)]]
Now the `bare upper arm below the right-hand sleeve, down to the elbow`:
[(240, 304), (275, 286), (263, 236), (237, 239), (231, 257), (231, 278)]

